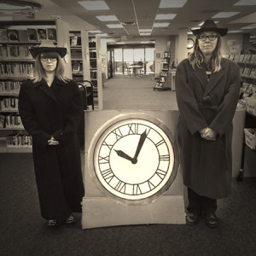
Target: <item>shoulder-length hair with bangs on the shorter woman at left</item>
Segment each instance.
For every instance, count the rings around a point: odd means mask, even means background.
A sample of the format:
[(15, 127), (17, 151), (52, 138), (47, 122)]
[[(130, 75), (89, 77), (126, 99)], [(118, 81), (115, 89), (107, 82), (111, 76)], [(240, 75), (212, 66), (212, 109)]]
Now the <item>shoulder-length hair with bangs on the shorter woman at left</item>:
[(69, 79), (67, 79), (64, 76), (64, 65), (63, 65), (63, 62), (61, 60), (61, 56), (55, 51), (44, 52), (42, 54), (37, 55), (36, 61), (35, 61), (33, 82), (36, 83), (36, 82), (41, 81), (42, 79), (44, 79), (44, 80), (47, 79), (44, 67), (42, 66), (42, 63), (40, 61), (40, 56), (41, 55), (43, 55), (46, 58), (57, 58), (57, 65), (56, 65), (56, 69), (55, 69), (55, 77), (67, 84)]

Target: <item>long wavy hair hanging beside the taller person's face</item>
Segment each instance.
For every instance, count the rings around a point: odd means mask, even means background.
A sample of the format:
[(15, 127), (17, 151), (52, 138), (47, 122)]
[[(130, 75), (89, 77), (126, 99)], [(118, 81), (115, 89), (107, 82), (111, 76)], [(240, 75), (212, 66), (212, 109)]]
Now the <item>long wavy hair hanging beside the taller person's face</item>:
[[(204, 55), (201, 52), (201, 49), (199, 48), (199, 35), (195, 38), (195, 49), (194, 52), (189, 55), (189, 63), (195, 69), (196, 67), (201, 67), (201, 63), (204, 61)], [(221, 69), (221, 59), (222, 55), (220, 52), (221, 48), (221, 36), (218, 35), (218, 42), (216, 45), (216, 48), (213, 50), (211, 63), (212, 66), (212, 73), (218, 72)]]

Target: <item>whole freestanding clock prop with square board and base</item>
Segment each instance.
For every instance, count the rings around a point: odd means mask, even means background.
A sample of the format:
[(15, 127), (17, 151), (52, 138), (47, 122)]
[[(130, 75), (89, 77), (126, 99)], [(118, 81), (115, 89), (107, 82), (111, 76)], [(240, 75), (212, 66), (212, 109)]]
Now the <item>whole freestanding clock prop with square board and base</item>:
[(177, 111), (85, 112), (82, 228), (185, 224)]

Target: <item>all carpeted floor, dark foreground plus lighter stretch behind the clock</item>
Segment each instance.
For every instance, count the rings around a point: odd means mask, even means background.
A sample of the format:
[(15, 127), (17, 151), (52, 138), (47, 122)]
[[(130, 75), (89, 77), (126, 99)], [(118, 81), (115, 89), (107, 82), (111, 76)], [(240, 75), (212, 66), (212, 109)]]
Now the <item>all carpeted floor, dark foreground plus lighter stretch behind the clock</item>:
[[(150, 78), (110, 79), (104, 109), (177, 109), (175, 92), (154, 91)], [(84, 152), (81, 151), (84, 160)], [(218, 201), (219, 227), (150, 224), (49, 231), (40, 215), (32, 154), (0, 154), (0, 255), (172, 256), (255, 255), (256, 178), (232, 180), (232, 195)], [(84, 166), (84, 165), (82, 165)], [(187, 201), (184, 195), (184, 201)]]

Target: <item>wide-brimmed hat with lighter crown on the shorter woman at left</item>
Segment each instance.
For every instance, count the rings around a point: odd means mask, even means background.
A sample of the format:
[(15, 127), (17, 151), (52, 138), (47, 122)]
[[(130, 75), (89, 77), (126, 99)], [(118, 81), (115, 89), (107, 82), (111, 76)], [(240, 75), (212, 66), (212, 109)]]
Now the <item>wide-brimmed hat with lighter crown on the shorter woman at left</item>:
[(67, 48), (56, 47), (51, 40), (47, 39), (43, 40), (38, 47), (29, 49), (29, 51), (34, 59), (37, 57), (38, 54), (42, 52), (57, 52), (61, 56), (61, 58), (63, 58), (67, 54)]

